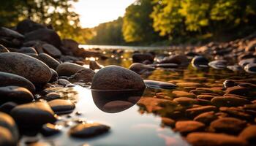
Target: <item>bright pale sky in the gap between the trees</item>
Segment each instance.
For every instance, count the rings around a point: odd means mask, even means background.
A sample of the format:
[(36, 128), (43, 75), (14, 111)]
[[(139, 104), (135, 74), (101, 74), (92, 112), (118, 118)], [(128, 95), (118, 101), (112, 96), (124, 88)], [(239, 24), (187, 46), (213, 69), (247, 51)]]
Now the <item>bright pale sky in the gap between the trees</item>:
[(74, 4), (80, 15), (83, 28), (92, 28), (99, 23), (116, 20), (123, 16), (125, 9), (135, 0), (79, 0)]

